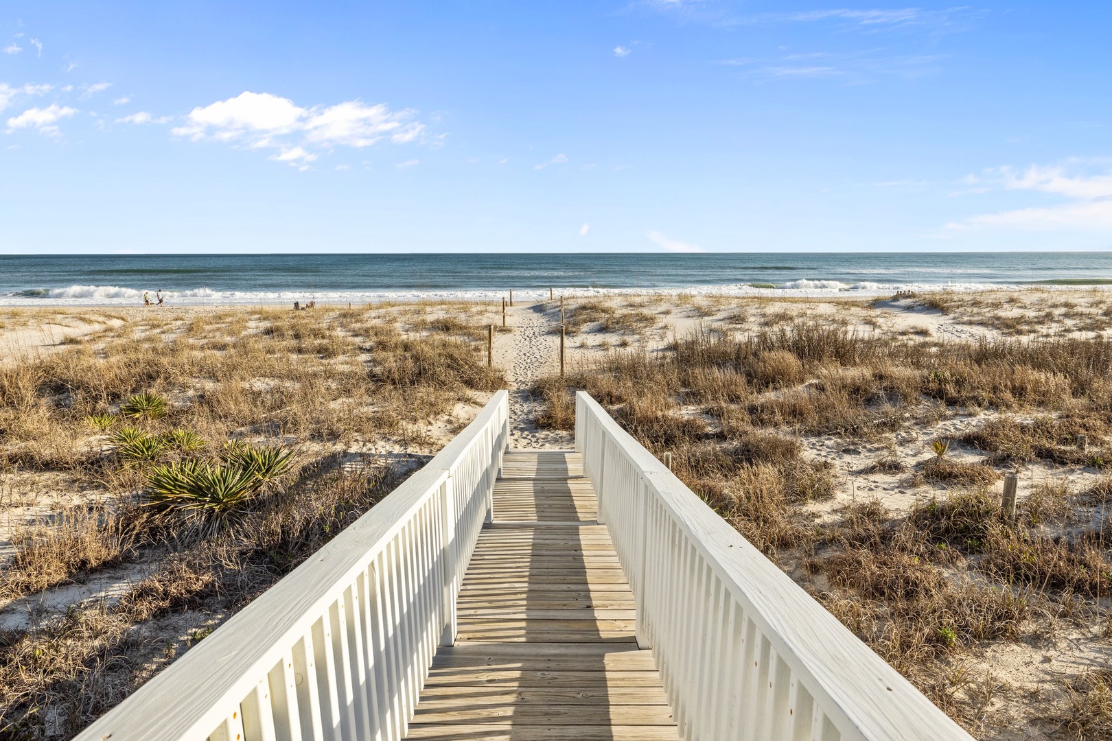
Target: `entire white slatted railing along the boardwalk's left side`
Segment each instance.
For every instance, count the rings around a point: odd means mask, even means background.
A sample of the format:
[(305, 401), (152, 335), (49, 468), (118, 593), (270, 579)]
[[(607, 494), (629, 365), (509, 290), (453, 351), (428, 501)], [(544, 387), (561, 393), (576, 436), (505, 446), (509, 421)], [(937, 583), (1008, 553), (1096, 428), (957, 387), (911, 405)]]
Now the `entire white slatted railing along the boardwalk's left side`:
[(509, 439), (506, 391), (421, 470), (80, 741), (400, 739)]

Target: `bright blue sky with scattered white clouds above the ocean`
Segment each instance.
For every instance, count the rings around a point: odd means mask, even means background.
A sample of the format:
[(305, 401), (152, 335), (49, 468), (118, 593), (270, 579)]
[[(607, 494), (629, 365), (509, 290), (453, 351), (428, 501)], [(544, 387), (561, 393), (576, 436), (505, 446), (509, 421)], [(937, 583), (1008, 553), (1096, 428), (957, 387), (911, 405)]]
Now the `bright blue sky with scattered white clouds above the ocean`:
[(1112, 247), (1112, 3), (6, 2), (0, 252)]

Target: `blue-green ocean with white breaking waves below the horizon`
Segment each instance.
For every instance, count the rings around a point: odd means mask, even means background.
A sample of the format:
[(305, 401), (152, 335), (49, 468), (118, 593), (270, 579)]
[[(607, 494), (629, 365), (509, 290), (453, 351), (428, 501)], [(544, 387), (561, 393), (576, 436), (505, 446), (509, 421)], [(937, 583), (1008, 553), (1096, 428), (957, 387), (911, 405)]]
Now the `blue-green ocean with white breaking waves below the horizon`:
[(1112, 252), (0, 256), (2, 306), (497, 300), (557, 294), (880, 296), (1112, 284)]

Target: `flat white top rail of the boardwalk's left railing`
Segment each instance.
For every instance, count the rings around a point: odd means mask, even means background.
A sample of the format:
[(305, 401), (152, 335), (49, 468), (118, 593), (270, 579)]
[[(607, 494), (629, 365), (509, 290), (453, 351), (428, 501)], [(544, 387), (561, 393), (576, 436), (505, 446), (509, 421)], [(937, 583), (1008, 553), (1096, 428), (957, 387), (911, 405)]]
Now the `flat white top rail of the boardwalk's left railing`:
[(126, 723), (109, 712), (78, 739), (206, 738), (227, 714), (229, 699), (238, 703), (281, 660), (405, 527), (506, 403), (507, 392), (496, 392), (424, 468), (128, 698)]

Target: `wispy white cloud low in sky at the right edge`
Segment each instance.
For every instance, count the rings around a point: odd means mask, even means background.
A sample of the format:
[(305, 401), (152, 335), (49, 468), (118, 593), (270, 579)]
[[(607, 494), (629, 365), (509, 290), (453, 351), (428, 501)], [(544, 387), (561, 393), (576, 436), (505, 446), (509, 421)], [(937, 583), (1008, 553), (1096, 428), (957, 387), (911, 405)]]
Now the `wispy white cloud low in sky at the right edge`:
[[(989, 170), (984, 177), (970, 176), (966, 183), (987, 183), (991, 189), (1050, 193), (1066, 199), (1064, 203), (1010, 209), (954, 221), (947, 229), (977, 228), (1051, 230), (1112, 230), (1112, 172), (1086, 171), (1078, 160), (1053, 167), (1031, 166), (1022, 172), (1012, 168)], [(1089, 162), (1089, 166), (1095, 164)], [(974, 188), (967, 192), (984, 192)]]

